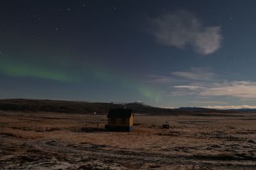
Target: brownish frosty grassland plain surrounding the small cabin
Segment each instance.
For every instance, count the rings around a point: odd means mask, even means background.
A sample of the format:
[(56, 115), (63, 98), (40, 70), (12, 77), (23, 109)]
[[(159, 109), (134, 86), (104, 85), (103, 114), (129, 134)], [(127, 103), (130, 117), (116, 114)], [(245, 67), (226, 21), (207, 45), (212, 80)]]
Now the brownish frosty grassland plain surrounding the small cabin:
[(95, 120), (106, 115), (1, 112), (0, 169), (256, 169), (255, 113), (136, 115), (132, 132), (79, 132)]

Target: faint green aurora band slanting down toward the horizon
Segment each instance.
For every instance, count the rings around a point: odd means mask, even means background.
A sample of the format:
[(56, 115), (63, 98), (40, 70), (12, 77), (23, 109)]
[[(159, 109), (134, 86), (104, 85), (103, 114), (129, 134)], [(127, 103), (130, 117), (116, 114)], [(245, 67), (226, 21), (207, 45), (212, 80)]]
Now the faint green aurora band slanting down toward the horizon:
[[(116, 74), (106, 72), (102, 67), (92, 67), (84, 69), (83, 73), (86, 75), (79, 75), (77, 73), (69, 73), (63, 69), (52, 69), (51, 67), (40, 66), (40, 64), (25, 64), (19, 60), (0, 59), (0, 72), (6, 76), (23, 77), (23, 78), (38, 78), (42, 80), (60, 81), (63, 83), (78, 83), (79, 81), (86, 80), (86, 76), (96, 78), (97, 80), (118, 84), (125, 89), (131, 89), (143, 97), (152, 99), (154, 102), (159, 103), (161, 96), (155, 90), (138, 83), (137, 81), (122, 78)], [(87, 78), (88, 79), (88, 78)]]

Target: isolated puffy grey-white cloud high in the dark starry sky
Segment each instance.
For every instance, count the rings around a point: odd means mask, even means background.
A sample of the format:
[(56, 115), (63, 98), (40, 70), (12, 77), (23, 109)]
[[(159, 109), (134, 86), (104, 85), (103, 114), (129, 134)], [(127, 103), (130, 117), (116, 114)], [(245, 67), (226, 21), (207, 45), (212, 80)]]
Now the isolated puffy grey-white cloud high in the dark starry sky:
[(204, 55), (218, 50), (223, 39), (220, 26), (204, 27), (189, 11), (165, 13), (152, 19), (151, 24), (151, 33), (159, 43), (177, 48), (190, 45), (196, 52)]

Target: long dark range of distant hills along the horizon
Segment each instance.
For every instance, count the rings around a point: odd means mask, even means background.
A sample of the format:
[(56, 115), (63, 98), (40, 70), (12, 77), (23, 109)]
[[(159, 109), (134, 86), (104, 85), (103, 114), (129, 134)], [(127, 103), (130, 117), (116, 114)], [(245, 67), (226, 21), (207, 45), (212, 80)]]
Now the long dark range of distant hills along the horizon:
[[(131, 108), (134, 113), (151, 115), (175, 115), (191, 113), (234, 113), (246, 110), (215, 110), (209, 108), (156, 108), (144, 103), (90, 103), (84, 101), (54, 101), (36, 99), (0, 99), (0, 110), (49, 111), (62, 113), (106, 114), (111, 108)], [(253, 110), (256, 112), (256, 110)]]

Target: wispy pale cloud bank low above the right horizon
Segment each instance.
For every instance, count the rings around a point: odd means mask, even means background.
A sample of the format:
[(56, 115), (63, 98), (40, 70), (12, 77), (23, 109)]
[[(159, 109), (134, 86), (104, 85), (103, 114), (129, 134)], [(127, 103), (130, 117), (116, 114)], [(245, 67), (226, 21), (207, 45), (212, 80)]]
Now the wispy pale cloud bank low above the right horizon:
[[(192, 67), (188, 71), (175, 71), (168, 76), (151, 75), (150, 82), (161, 83), (169, 87), (164, 96), (193, 96), (200, 99), (239, 99), (252, 101), (256, 99), (256, 81), (221, 80), (218, 74), (202, 67)], [(163, 86), (162, 86), (163, 87)], [(163, 92), (164, 94), (164, 92)], [(204, 101), (203, 101), (204, 102)], [(219, 103), (212, 104), (223, 104)], [(211, 104), (209, 101), (205, 101)], [(201, 103), (202, 104), (202, 103)]]

